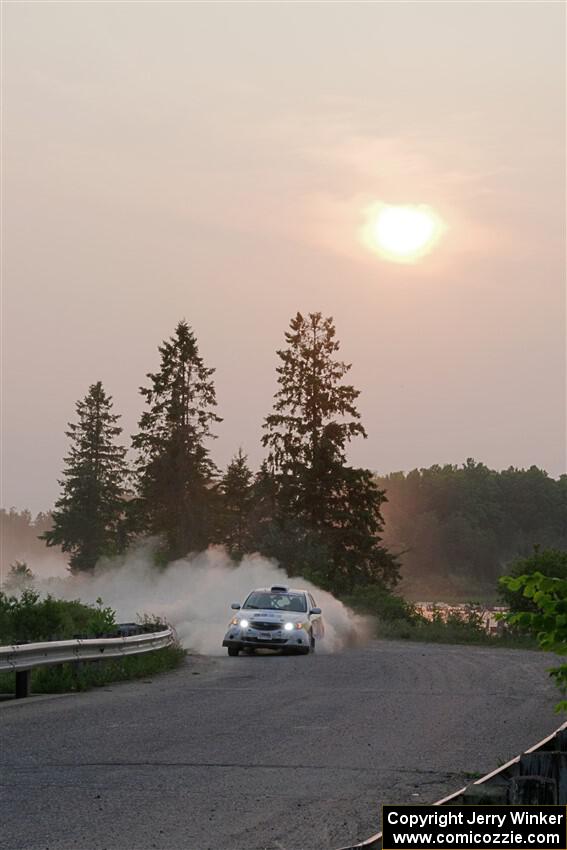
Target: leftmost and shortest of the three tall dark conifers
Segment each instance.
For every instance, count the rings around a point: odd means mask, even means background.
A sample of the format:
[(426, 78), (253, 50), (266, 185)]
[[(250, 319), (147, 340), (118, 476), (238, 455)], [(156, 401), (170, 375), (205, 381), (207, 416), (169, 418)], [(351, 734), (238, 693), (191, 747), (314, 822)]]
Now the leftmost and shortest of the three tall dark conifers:
[(125, 548), (126, 449), (112, 413), (112, 397), (102, 383), (92, 384), (77, 402), (77, 421), (66, 431), (71, 449), (65, 458), (62, 494), (55, 503), (51, 530), (41, 535), (48, 546), (70, 553), (71, 572), (91, 571), (99, 558)]

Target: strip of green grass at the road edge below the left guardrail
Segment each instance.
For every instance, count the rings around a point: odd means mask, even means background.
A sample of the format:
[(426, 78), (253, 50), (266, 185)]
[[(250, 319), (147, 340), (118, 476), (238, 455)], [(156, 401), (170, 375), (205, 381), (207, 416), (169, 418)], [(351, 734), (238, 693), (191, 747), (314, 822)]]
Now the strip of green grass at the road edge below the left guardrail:
[[(83, 661), (79, 664), (61, 664), (57, 667), (37, 667), (31, 674), (31, 692), (35, 694), (60, 694), (70, 691), (87, 691), (112, 682), (144, 679), (179, 667), (186, 656), (179, 644), (164, 649), (112, 658), (101, 661)], [(15, 673), (0, 673), (0, 693), (14, 693)]]

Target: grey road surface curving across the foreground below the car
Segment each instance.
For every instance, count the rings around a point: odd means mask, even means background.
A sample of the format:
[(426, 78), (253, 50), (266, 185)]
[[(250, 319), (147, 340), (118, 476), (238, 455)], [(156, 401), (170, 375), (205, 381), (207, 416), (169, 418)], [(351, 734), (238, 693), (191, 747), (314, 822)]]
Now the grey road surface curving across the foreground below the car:
[(549, 656), (375, 641), (0, 704), (2, 850), (336, 850), (552, 732)]

